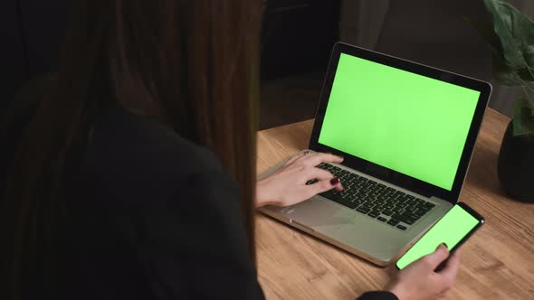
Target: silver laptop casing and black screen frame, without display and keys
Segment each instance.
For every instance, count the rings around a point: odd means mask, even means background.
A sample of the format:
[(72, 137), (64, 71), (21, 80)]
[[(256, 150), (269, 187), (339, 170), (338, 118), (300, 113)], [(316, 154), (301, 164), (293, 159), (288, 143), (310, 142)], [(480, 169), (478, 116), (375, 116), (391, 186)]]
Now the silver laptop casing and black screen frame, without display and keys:
[[(336, 72), (335, 68), (337, 66), (337, 62), (335, 60), (339, 59), (339, 53), (349, 53), (350, 55), (356, 55), (359, 57), (365, 56), (366, 58), (370, 55), (370, 59), (373, 61), (381, 62), (381, 60), (385, 60), (385, 63), (390, 65), (395, 65), (395, 63), (398, 63), (396, 67), (401, 66), (401, 69), (404, 64), (408, 64), (412, 68), (421, 68), (422, 74), (424, 74), (426, 70), (443, 72), (443, 78), (448, 76), (450, 77), (449, 80), (453, 80), (453, 78), (459, 77), (462, 78), (462, 80), (466, 80), (466, 82), (462, 81), (462, 85), (468, 86), (472, 89), (480, 89), (482, 91), (481, 98), (479, 99), (479, 106), (477, 107), (477, 113), (473, 116), (472, 120), (472, 133), (470, 133), (470, 136), (468, 136), (466, 140), (466, 145), (464, 145), (462, 164), (460, 165), (459, 171), (456, 174), (455, 187), (448, 200), (443, 200), (434, 195), (428, 197), (424, 194), (410, 191), (402, 186), (389, 183), (386, 180), (381, 180), (372, 174), (353, 169), (346, 165), (345, 162), (343, 164), (332, 164), (342, 170), (348, 171), (349, 173), (355, 173), (358, 176), (366, 178), (367, 180), (373, 180), (377, 183), (384, 184), (386, 187), (394, 188), (396, 191), (404, 192), (406, 195), (411, 195), (415, 198), (424, 200), (424, 202), (430, 202), (434, 204), (434, 208), (429, 210), (419, 220), (416, 220), (415, 223), (405, 224), (404, 222), (400, 221), (398, 224), (404, 226), (405, 230), (399, 230), (396, 226), (391, 226), (385, 221), (379, 221), (377, 218), (369, 217), (367, 214), (355, 211), (355, 209), (350, 209), (345, 205), (341, 205), (338, 202), (334, 202), (321, 195), (314, 196), (308, 201), (301, 202), (290, 207), (281, 208), (267, 206), (260, 209), (260, 211), (262, 211), (264, 214), (271, 216), (276, 220), (280, 220), (292, 227), (307, 232), (308, 234), (329, 242), (336, 247), (345, 249), (360, 258), (367, 259), (374, 264), (377, 264), (378, 266), (386, 266), (395, 262), (396, 258), (400, 257), (400, 255), (402, 255), (407, 248), (414, 244), (415, 241), (421, 237), (426, 230), (428, 230), (437, 220), (443, 217), (443, 215), (453, 207), (454, 203), (457, 202), (469, 161), (471, 160), (472, 148), (476, 141), (476, 136), (478, 136), (480, 123), (482, 122), (483, 110), (486, 108), (491, 94), (491, 86), (485, 82), (468, 79), (461, 75), (453, 74), (444, 70), (437, 70), (431, 67), (416, 64), (411, 61), (404, 61), (387, 56), (385, 54), (371, 52), (344, 43), (338, 43), (332, 52), (329, 71), (327, 72), (327, 79), (325, 80), (325, 86), (323, 87), (323, 95), (321, 95), (321, 102), (328, 102), (328, 92), (329, 89), (331, 89), (332, 84), (332, 79), (329, 79), (329, 76), (333, 77)], [(327, 89), (326, 94), (325, 89)], [(325, 103), (319, 103), (318, 115), (320, 114), (322, 105), (326, 106)], [(480, 115), (481, 109), (482, 116)], [(318, 127), (316, 124), (314, 131), (320, 131), (320, 129), (320, 126)], [(312, 144), (313, 143), (310, 141), (310, 146)], [(313, 152), (320, 150), (321, 149), (310, 148), (303, 151)], [(341, 153), (341, 155), (347, 157), (347, 154)], [(259, 179), (262, 179), (265, 176), (268, 176), (270, 173), (275, 172), (283, 163), (284, 162), (281, 162), (280, 164), (273, 166), (265, 173), (262, 173), (259, 176)], [(341, 183), (343, 184), (343, 179), (341, 179)], [(391, 219), (391, 216), (381, 215), (381, 217)]]

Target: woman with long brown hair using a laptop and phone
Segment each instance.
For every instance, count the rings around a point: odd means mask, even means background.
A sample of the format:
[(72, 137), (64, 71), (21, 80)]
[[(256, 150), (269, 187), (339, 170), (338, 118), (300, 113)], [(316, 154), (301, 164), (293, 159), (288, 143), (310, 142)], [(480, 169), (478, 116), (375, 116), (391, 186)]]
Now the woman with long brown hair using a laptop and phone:
[[(301, 155), (255, 183), (260, 1), (76, 1), (3, 188), (2, 299), (261, 299), (253, 209), (341, 189)], [(306, 185), (310, 179), (319, 183)], [(364, 299), (453, 284), (439, 248)]]

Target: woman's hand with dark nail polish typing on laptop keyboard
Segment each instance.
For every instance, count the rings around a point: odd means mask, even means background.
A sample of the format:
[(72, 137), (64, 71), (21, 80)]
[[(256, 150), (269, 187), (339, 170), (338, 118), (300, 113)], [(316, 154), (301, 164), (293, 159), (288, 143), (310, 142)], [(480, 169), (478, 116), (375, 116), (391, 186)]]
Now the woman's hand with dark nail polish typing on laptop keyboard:
[[(256, 206), (271, 204), (290, 206), (303, 202), (319, 192), (336, 188), (343, 190), (339, 178), (316, 166), (320, 163), (341, 163), (342, 157), (323, 153), (301, 153), (256, 185)], [(306, 184), (317, 179), (317, 183)]]

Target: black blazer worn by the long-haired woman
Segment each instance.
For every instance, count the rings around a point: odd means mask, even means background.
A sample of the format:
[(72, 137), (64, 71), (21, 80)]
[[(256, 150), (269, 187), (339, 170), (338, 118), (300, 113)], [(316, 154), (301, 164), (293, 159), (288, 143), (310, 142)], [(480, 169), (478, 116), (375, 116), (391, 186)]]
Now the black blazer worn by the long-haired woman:
[(69, 171), (60, 299), (263, 299), (239, 189), (215, 155), (120, 108), (82, 153)]

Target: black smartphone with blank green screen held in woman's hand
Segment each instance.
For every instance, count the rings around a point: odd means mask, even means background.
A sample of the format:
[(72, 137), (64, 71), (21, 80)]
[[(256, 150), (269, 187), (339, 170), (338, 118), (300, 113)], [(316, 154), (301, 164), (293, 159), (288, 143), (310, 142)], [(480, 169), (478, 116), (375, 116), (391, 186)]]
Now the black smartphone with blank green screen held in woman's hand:
[[(442, 243), (452, 255), (454, 250), (462, 246), (463, 242), (469, 239), (482, 224), (484, 224), (484, 218), (478, 212), (467, 204), (459, 202), (397, 260), (396, 267), (399, 270), (405, 268), (415, 260), (433, 253)], [(445, 262), (443, 261), (436, 271), (441, 270)]]

